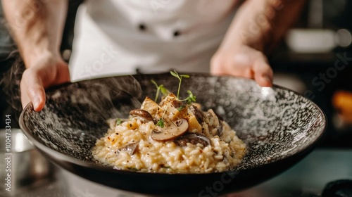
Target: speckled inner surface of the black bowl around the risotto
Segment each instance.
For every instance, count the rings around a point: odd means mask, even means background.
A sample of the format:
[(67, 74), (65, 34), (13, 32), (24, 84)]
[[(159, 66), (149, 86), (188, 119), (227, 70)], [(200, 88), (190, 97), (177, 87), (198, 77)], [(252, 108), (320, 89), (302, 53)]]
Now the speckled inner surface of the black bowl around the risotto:
[[(177, 93), (178, 80), (170, 73), (64, 84), (47, 91), (46, 106), (39, 113), (29, 104), (20, 126), (39, 149), (46, 147), (76, 165), (100, 166), (90, 150), (107, 132), (106, 120), (127, 117), (145, 96), (154, 98), (156, 87), (151, 80)], [(298, 155), (315, 146), (325, 130), (322, 110), (282, 87), (259, 87), (244, 78), (194, 73), (182, 79), (180, 98), (188, 96), (187, 90), (204, 110), (213, 108), (221, 115), (247, 144), (248, 153), (235, 169), (238, 172)]]

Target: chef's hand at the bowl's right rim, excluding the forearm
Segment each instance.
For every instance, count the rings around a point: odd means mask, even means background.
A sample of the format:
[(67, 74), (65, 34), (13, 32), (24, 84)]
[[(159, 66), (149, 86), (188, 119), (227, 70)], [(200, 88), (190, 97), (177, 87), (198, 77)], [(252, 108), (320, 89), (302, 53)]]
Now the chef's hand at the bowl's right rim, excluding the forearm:
[(233, 75), (247, 77), (262, 86), (272, 86), (272, 69), (265, 55), (246, 45), (233, 46), (231, 49), (218, 49), (210, 61), (213, 75)]

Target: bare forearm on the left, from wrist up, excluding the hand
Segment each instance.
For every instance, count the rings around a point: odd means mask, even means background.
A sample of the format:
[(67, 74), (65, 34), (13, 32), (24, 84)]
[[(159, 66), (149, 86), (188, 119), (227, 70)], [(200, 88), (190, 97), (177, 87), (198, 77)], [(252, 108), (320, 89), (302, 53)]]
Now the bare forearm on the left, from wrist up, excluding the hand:
[(43, 53), (59, 55), (68, 1), (2, 0), (2, 4), (27, 68)]

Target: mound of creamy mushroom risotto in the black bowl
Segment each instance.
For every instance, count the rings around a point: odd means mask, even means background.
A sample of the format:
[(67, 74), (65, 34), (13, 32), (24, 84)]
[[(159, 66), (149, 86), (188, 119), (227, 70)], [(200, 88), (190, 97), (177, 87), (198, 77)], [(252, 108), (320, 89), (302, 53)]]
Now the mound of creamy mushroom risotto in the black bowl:
[(239, 164), (246, 145), (212, 109), (180, 101), (174, 94), (161, 103), (146, 97), (128, 119), (109, 120), (96, 141), (96, 160), (119, 170), (207, 173)]

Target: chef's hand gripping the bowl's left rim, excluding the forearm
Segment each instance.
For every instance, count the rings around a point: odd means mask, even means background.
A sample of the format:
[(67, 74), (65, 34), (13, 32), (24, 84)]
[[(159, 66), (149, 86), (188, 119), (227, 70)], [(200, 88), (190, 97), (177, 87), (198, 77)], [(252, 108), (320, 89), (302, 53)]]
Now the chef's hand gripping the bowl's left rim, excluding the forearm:
[(68, 64), (61, 56), (51, 53), (31, 61), (23, 72), (20, 82), (21, 102), (23, 108), (32, 101), (34, 110), (39, 111), (45, 105), (45, 88), (70, 81)]

